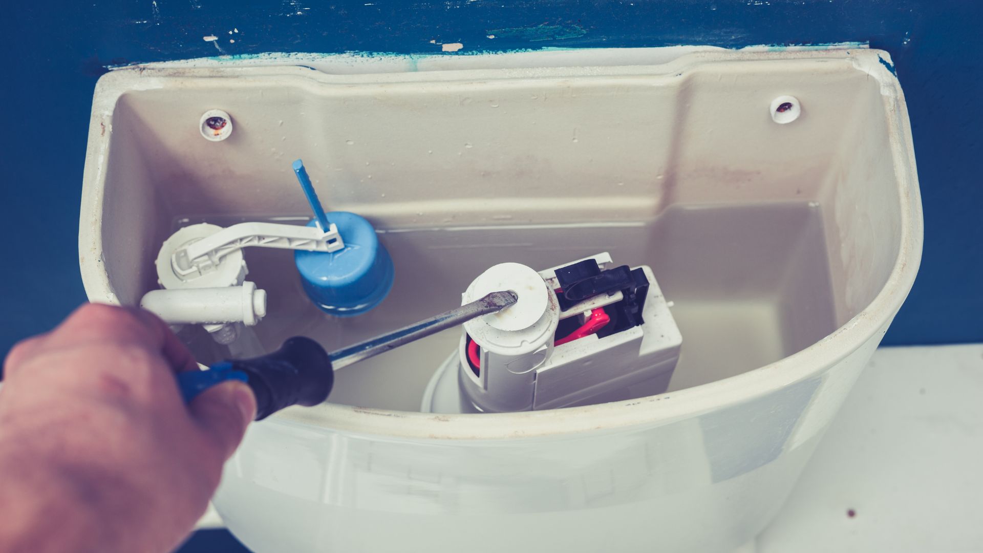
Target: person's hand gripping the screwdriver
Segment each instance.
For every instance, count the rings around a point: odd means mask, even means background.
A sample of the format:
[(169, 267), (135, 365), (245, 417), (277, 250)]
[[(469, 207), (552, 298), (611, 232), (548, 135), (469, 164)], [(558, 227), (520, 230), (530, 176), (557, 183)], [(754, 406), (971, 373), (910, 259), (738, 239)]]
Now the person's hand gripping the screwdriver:
[(17, 344), (0, 389), (0, 551), (163, 553), (202, 516), (253, 420), (246, 384), (185, 405), (167, 325), (88, 304)]

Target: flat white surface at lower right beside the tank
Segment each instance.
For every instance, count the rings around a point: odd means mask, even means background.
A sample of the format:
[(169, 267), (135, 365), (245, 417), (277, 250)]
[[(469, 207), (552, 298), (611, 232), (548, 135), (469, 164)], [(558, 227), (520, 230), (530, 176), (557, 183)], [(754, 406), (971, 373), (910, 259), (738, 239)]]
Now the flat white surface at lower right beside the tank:
[(983, 551), (981, 429), (983, 344), (878, 349), (758, 553)]

